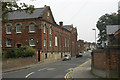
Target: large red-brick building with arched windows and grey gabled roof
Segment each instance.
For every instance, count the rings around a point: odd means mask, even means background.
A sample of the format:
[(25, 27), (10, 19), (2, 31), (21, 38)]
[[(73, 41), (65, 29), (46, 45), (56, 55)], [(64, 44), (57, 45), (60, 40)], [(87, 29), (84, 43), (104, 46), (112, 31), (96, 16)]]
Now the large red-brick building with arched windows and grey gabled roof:
[(49, 6), (36, 8), (32, 14), (9, 12), (2, 28), (2, 48), (29, 45), (35, 48), (37, 61), (60, 59), (64, 54), (75, 54), (71, 38), (77, 38), (71, 37), (71, 31), (55, 22)]

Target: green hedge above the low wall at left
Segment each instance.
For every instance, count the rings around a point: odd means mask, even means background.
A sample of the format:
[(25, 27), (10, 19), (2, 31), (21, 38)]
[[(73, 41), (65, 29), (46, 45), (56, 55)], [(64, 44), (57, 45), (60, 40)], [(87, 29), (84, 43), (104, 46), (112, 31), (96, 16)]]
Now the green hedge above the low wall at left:
[(33, 55), (35, 55), (35, 49), (29, 46), (3, 51), (3, 58), (32, 57)]

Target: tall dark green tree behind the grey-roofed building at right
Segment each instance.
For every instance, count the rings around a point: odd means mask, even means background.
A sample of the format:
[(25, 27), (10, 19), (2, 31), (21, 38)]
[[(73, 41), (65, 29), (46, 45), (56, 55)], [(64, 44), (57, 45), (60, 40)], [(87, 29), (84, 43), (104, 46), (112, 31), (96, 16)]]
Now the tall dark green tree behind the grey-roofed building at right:
[(96, 27), (99, 30), (99, 40), (98, 44), (100, 45), (102, 41), (107, 40), (107, 35), (106, 35), (106, 26), (107, 25), (118, 25), (118, 14), (117, 13), (112, 13), (112, 14), (105, 14), (101, 16), (96, 24)]

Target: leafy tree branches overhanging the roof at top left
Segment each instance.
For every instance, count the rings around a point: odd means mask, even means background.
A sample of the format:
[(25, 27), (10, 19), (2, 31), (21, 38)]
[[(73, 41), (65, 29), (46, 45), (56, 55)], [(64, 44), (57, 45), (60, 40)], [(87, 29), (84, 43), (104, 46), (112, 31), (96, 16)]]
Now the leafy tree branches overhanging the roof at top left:
[(7, 13), (8, 12), (13, 12), (14, 10), (25, 10), (27, 13), (32, 14), (33, 11), (35, 10), (33, 5), (27, 5), (25, 3), (20, 3), (20, 5), (18, 5), (17, 3), (18, 0), (15, 0), (13, 2), (2, 2), (2, 21), (6, 21), (7, 20)]

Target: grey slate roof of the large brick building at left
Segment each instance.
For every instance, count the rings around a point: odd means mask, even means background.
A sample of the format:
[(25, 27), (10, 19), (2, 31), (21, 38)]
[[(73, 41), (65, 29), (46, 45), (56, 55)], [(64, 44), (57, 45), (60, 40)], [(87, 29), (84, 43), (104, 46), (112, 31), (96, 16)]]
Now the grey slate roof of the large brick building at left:
[(42, 17), (44, 11), (45, 11), (45, 8), (43, 7), (43, 8), (35, 8), (32, 14), (26, 13), (25, 10), (9, 12), (8, 20), (38, 18), (38, 17)]

